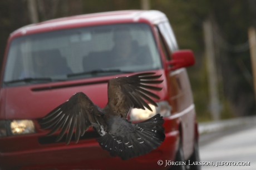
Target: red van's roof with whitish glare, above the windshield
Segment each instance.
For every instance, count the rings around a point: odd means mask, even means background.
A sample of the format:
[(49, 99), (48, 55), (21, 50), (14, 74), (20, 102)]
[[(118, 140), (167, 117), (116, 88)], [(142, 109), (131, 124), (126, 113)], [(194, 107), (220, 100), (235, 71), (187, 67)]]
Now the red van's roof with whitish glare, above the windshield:
[(58, 29), (76, 28), (84, 26), (95, 26), (101, 24), (113, 24), (124, 22), (148, 22), (157, 24), (159, 22), (167, 21), (165, 14), (156, 11), (142, 11), (142, 10), (127, 10), (127, 11), (112, 11), (100, 12), (92, 14), (82, 14), (78, 16), (64, 17), (58, 19), (51, 19), (48, 21), (30, 24), (17, 29), (11, 34), (11, 37), (24, 36), (32, 33), (40, 33), (47, 31), (54, 31)]

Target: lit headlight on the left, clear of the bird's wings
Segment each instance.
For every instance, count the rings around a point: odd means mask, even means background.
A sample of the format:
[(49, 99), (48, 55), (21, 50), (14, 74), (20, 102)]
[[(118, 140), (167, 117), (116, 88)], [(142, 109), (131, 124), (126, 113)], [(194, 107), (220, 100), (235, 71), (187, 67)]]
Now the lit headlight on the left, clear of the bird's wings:
[(13, 120), (10, 123), (11, 133), (16, 134), (27, 134), (35, 133), (35, 125), (31, 120)]

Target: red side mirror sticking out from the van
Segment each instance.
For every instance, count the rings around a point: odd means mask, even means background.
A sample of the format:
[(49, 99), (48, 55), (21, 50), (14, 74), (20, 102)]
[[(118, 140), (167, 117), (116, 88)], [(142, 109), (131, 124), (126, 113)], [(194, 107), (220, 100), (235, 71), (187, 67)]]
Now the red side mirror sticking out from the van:
[(168, 69), (169, 71), (178, 68), (193, 66), (194, 63), (194, 53), (190, 49), (184, 49), (173, 52), (173, 59), (167, 62), (168, 65), (171, 65), (171, 68)]

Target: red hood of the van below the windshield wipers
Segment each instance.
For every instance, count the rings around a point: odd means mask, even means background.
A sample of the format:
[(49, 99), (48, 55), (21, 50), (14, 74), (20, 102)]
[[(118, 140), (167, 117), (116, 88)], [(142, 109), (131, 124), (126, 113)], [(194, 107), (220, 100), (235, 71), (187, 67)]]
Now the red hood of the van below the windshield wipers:
[[(163, 73), (163, 71), (157, 71), (157, 74)], [(85, 93), (93, 103), (103, 108), (107, 104), (107, 82), (109, 79), (130, 75), (119, 74), (118, 76), (3, 88), (1, 99), (3, 101), (3, 98), (5, 98), (5, 100), (1, 105), (5, 106), (4, 117), (6, 119), (41, 118), (52, 109), (66, 102), (76, 92)], [(162, 83), (159, 87), (166, 89), (166, 84)], [(162, 90), (156, 94), (163, 99), (166, 94), (164, 91)], [(3, 110), (3, 107), (1, 110)], [(0, 117), (3, 118), (2, 113)]]

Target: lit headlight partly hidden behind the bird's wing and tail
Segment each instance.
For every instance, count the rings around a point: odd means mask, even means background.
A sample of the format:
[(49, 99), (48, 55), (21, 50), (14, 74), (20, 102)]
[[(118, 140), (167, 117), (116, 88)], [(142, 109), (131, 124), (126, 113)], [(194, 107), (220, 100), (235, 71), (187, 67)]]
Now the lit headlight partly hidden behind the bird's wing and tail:
[(147, 108), (145, 108), (145, 110), (132, 108), (130, 112), (130, 121), (141, 121), (141, 120), (149, 119), (157, 113), (160, 113), (161, 116), (163, 117), (167, 117), (171, 115), (171, 106), (167, 101), (158, 102), (157, 105), (158, 107), (155, 107), (154, 105), (149, 104), (149, 106), (152, 109), (152, 112)]

